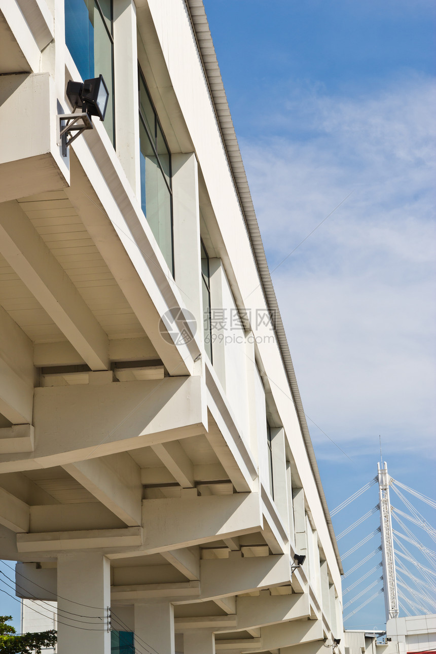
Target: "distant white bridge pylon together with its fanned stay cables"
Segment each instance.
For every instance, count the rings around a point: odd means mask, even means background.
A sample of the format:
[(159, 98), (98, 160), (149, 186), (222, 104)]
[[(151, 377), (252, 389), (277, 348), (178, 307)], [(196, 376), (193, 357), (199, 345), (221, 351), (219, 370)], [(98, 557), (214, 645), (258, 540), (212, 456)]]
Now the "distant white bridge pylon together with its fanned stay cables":
[[(350, 569), (346, 570), (346, 600), (344, 603), (344, 621), (355, 616), (371, 602), (377, 603), (380, 613), (378, 596), (384, 594), (386, 621), (403, 615), (428, 615), (436, 612), (436, 551), (432, 549), (430, 540), (436, 542), (436, 529), (431, 524), (434, 519), (428, 519), (416, 509), (412, 502), (420, 500), (430, 508), (436, 509), (436, 501), (426, 495), (407, 487), (396, 481), (388, 473), (386, 462), (377, 464), (377, 476), (365, 486), (357, 490), (347, 500), (331, 511), (331, 516), (346, 509), (352, 502), (360, 498), (367, 490), (378, 485), (378, 504), (366, 511), (359, 519), (352, 521), (337, 536), (337, 540), (348, 540), (349, 534), (362, 525), (371, 516), (378, 513), (379, 526), (361, 540), (352, 542), (352, 547), (341, 553), (341, 558), (350, 557)], [(392, 506), (390, 491), (393, 491), (403, 506)], [(427, 509), (428, 510), (428, 509)], [(415, 531), (421, 529), (424, 534), (416, 535)], [(348, 537), (348, 538), (347, 538)], [(361, 549), (366, 543), (380, 538), (377, 549), (360, 557)], [(340, 543), (342, 545), (342, 542)], [(412, 545), (414, 552), (409, 551)], [(344, 547), (344, 549), (346, 549)], [(381, 552), (381, 562), (371, 560)], [(367, 565), (365, 565), (367, 564)], [(382, 576), (380, 576), (380, 566)], [(361, 568), (361, 576), (353, 581), (352, 576)], [(376, 577), (378, 571), (378, 577)], [(362, 574), (363, 573), (363, 574)], [(372, 577), (372, 580), (371, 580)], [(368, 579), (369, 585), (361, 589), (361, 582)], [(349, 598), (348, 593), (354, 590), (354, 596)], [(370, 594), (369, 591), (373, 591)], [(351, 594), (351, 593), (350, 593)], [(358, 602), (357, 600), (361, 600)], [(356, 606), (358, 604), (358, 606)], [(371, 606), (371, 604), (370, 604)], [(382, 610), (381, 610), (382, 611)], [(381, 617), (381, 615), (380, 615)]]

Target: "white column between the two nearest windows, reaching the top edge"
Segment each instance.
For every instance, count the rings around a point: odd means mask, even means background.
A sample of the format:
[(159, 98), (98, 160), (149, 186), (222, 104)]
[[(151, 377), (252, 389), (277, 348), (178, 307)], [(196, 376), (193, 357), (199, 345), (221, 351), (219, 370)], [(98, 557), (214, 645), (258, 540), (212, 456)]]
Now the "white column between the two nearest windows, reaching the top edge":
[(133, 0), (114, 0), (114, 77), (116, 154), (141, 204), (138, 46)]

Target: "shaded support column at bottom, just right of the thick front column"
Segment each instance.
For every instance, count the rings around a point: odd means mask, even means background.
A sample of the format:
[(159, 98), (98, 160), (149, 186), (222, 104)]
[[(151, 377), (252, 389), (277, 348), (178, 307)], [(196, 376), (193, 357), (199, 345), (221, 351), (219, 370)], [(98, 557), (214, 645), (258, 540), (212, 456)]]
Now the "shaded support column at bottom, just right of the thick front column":
[(138, 651), (150, 648), (159, 654), (175, 654), (173, 604), (135, 604), (135, 645)]

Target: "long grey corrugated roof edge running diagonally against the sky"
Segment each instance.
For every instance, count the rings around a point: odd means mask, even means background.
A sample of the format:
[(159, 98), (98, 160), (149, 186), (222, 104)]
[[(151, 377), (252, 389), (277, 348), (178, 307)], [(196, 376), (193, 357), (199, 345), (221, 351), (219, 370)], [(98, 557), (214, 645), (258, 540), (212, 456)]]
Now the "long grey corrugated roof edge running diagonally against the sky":
[(280, 311), (278, 309), (273, 282), (271, 281), (271, 275), (269, 274), (269, 268), (265, 256), (265, 250), (263, 249), (258, 220), (254, 211), (254, 205), (250, 194), (250, 188), (248, 187), (248, 181), (246, 179), (246, 173), (241, 157), (241, 152), (239, 150), (235, 128), (233, 126), (233, 120), (231, 118), (229, 105), (227, 103), (226, 91), (224, 90), (224, 84), (222, 82), (218, 60), (216, 58), (216, 52), (212, 42), (212, 35), (210, 34), (209, 22), (207, 21), (205, 7), (203, 5), (203, 0), (185, 0), (185, 3), (188, 9), (188, 13), (190, 14), (195, 40), (197, 41), (199, 54), (203, 63), (203, 69), (205, 70), (205, 75), (209, 86), (210, 97), (212, 99), (212, 104), (214, 105), (214, 111), (218, 121), (218, 126), (220, 128), (224, 148), (226, 149), (231, 175), (233, 177), (233, 182), (235, 184), (235, 189), (239, 198), (239, 203), (241, 204), (241, 209), (243, 211), (244, 219), (246, 222), (246, 228), (248, 230), (248, 236), (250, 237), (254, 260), (256, 261), (256, 266), (258, 267), (259, 276), (263, 287), (263, 293), (271, 313), (278, 345), (280, 347), (280, 354), (282, 356), (284, 368), (288, 375), (293, 401), (297, 409), (299, 424), (301, 426), (301, 432), (305, 441), (307, 455), (309, 456), (310, 466), (312, 467), (316, 487), (318, 488), (322, 508), (324, 509), (324, 515), (326, 516), (326, 522), (329, 529), (331, 542), (333, 544), (333, 549), (335, 551), (336, 559), (339, 565), (339, 572), (344, 574), (341, 555), (339, 554), (335, 532), (333, 530), (333, 524), (331, 523), (331, 517), (327, 507), (326, 495), (324, 494), (312, 440), (310, 439), (309, 428), (307, 426), (305, 412), (303, 409), (303, 403), (301, 402), (297, 379), (295, 378), (295, 371), (293, 370), (288, 340), (286, 339), (282, 317), (280, 316)]

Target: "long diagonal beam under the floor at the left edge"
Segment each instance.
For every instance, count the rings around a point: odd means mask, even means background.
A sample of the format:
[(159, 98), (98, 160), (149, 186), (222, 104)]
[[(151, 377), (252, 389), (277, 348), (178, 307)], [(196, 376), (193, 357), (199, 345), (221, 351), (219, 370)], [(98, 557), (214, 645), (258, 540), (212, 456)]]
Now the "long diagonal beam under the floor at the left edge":
[(109, 339), (16, 201), (0, 206), (0, 251), (92, 370), (109, 368)]

